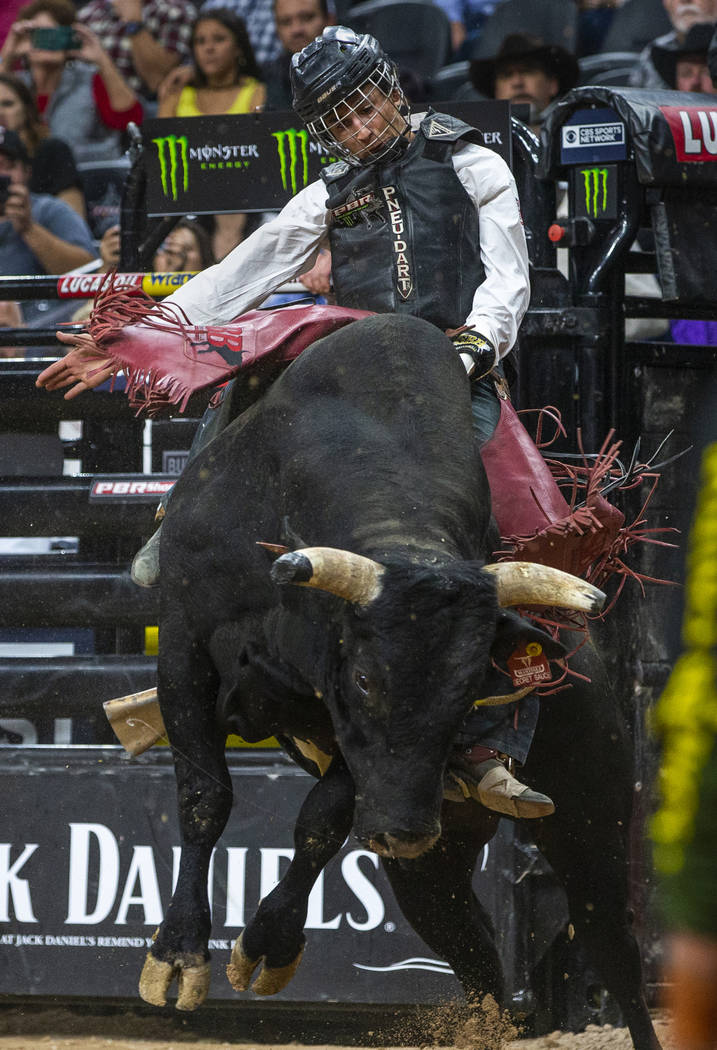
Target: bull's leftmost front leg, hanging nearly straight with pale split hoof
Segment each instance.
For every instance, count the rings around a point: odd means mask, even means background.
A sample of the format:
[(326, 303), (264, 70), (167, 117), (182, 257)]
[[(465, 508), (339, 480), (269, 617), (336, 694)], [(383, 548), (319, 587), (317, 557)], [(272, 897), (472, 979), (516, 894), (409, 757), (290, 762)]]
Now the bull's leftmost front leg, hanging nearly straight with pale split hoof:
[(142, 970), (140, 994), (153, 1006), (165, 1006), (176, 979), (177, 1010), (195, 1010), (209, 992), (209, 862), (229, 817), (232, 789), (225, 734), (214, 718), (216, 675), (196, 643), (185, 638), (183, 644), (176, 626), (160, 638), (159, 696), (174, 758), (182, 859), (171, 902)]

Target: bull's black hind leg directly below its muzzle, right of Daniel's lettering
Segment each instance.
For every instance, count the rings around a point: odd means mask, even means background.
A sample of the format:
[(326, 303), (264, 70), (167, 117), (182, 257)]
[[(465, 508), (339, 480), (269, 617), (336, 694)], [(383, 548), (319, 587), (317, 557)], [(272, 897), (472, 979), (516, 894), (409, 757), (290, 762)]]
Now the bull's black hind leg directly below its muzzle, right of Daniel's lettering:
[[(470, 811), (468, 819), (464, 811)], [(415, 860), (383, 858), (404, 917), (419, 937), (452, 968), (471, 1003), (487, 993), (503, 1002), (503, 969), (493, 927), (472, 888), (479, 850), (498, 817), (477, 805), (444, 803), (443, 834)]]

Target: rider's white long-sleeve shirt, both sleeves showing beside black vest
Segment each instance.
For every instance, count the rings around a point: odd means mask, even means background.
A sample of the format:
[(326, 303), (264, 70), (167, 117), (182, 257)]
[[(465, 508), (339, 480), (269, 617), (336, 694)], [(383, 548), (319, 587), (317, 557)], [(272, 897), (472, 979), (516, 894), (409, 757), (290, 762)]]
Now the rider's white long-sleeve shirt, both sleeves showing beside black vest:
[[(478, 210), (486, 275), (465, 323), (488, 339), (501, 358), (515, 342), (530, 298), (515, 182), (505, 161), (483, 146), (461, 145), (452, 163)], [(284, 281), (305, 273), (319, 249), (328, 247), (326, 201), (326, 187), (317, 180), (226, 258), (165, 301), (181, 307), (195, 324), (230, 321), (259, 306)]]

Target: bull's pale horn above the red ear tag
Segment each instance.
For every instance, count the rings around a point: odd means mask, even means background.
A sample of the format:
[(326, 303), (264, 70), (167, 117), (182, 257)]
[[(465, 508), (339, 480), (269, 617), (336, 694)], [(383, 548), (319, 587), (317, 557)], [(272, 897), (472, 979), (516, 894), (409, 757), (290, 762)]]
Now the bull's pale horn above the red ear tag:
[(483, 568), (495, 576), (498, 603), (503, 607), (555, 605), (561, 609), (597, 613), (605, 604), (606, 595), (597, 587), (550, 565), (498, 562)]

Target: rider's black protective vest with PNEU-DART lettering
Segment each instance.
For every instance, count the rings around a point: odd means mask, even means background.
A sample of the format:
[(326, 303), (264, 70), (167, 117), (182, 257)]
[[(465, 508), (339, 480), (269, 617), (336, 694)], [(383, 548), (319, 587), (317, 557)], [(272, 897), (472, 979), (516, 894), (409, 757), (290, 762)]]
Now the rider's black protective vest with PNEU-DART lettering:
[(339, 306), (412, 314), (442, 330), (465, 322), (485, 272), (478, 210), (451, 163), (461, 140), (481, 144), (468, 124), (428, 112), (397, 161), (322, 171)]

